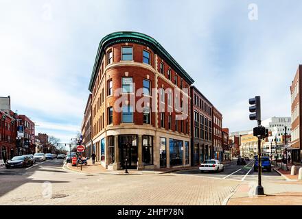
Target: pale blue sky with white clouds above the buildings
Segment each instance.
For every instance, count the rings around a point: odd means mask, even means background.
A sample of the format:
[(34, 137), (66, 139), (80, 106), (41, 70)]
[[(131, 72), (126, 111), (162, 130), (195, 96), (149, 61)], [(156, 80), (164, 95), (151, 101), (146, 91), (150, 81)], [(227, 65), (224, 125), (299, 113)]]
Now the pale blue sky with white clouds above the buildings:
[(290, 84), (302, 64), (301, 1), (0, 0), (0, 96), (70, 142), (80, 131), (100, 40), (114, 31), (152, 36), (196, 81), (230, 131), (290, 116)]

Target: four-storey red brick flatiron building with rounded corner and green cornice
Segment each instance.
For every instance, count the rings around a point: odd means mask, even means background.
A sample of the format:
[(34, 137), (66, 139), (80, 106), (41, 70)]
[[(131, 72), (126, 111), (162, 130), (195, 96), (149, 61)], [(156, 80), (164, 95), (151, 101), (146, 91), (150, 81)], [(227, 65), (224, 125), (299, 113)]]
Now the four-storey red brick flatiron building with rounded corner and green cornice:
[(102, 166), (114, 170), (189, 166), (192, 83), (150, 36), (129, 31), (105, 36), (89, 84), (91, 138)]

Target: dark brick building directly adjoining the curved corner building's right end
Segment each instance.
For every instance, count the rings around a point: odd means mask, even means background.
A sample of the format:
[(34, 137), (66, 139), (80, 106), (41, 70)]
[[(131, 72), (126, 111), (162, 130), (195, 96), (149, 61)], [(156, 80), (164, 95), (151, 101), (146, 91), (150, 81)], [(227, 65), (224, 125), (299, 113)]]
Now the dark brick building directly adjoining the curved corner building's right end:
[(191, 166), (213, 157), (211, 102), (191, 86)]

